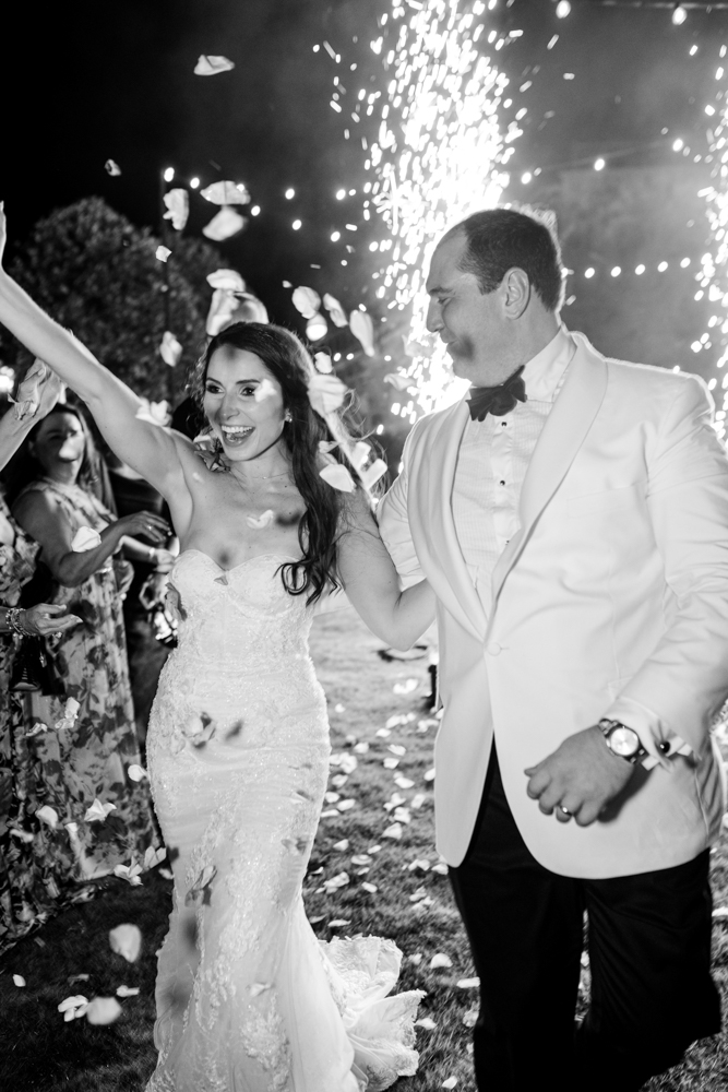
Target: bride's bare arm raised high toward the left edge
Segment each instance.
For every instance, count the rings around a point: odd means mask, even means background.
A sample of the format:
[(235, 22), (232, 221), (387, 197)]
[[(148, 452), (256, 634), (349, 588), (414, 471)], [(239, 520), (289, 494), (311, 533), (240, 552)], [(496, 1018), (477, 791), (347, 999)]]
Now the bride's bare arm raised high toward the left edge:
[(177, 440), (165, 429), (140, 420), (141, 400), (63, 330), (2, 268), (7, 240), (0, 204), (0, 322), (45, 360), (88, 406), (109, 447), (169, 497), (183, 482)]

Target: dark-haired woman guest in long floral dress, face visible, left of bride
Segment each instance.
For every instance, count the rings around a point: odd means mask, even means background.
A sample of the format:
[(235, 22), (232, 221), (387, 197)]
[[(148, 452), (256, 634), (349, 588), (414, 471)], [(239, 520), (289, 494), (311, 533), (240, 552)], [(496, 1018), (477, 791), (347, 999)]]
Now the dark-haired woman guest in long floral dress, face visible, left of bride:
[[(58, 405), (26, 442), (25, 471), (14, 467), (15, 478), (31, 484), (13, 514), (40, 544), (50, 600), (81, 619), (48, 641), (63, 695), (26, 699), (28, 749), (43, 771), (44, 804), (56, 816), (44, 836), (61, 889), (142, 864), (157, 844), (146, 780), (129, 774), (140, 753), (121, 614), (130, 566), (119, 550), (155, 561), (166, 551), (130, 536), (159, 543), (168, 527), (151, 512), (117, 520), (102, 505), (89, 488), (92, 444), (80, 413)], [(75, 717), (69, 698), (79, 703)]]

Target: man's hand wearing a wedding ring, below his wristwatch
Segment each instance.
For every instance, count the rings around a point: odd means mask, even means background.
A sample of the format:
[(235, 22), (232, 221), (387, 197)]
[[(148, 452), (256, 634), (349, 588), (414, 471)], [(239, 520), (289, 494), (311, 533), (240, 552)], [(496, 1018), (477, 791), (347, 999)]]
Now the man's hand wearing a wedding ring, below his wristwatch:
[(526, 792), (544, 815), (554, 808), (557, 819), (573, 818), (588, 827), (600, 811), (624, 788), (634, 767), (617, 758), (607, 747), (597, 725), (569, 736), (552, 755), (524, 773), (529, 779)]

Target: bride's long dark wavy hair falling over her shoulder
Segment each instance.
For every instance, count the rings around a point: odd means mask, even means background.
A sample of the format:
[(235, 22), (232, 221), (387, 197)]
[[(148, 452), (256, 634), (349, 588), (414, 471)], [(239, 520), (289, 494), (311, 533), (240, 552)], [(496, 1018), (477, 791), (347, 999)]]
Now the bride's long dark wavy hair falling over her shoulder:
[[(294, 482), (306, 503), (306, 512), (298, 525), (302, 558), (283, 565), (281, 577), (290, 595), (306, 594), (307, 603), (315, 603), (327, 587), (339, 586), (336, 545), (345, 515), (343, 495), (319, 476), (323, 465), (319, 444), (322, 440), (350, 439), (349, 427), (344, 424), (350, 406), (337, 413), (338, 435), (334, 436), (309, 402), (309, 382), (317, 375), (311, 355), (289, 330), (261, 322), (236, 322), (211, 340), (192, 384), (200, 403), (213, 354), (226, 345), (260, 357), (281, 384), (284, 410), (290, 411), (291, 419), (284, 425), (283, 439), (290, 453)], [(356, 472), (338, 447), (329, 458), (345, 463), (356, 480)]]

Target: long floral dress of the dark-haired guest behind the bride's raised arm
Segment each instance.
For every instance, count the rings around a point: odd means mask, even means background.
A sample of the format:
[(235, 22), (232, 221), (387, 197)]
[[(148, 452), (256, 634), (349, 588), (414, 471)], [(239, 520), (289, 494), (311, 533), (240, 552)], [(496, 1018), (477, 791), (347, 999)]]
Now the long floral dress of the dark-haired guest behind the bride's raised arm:
[[(100, 532), (115, 519), (79, 486), (44, 478), (23, 495), (34, 490), (53, 494), (72, 535), (82, 526)], [(145, 854), (148, 862), (147, 851), (159, 844), (146, 778), (129, 775), (129, 768), (141, 761), (121, 613), (130, 575), (128, 562), (114, 559), (76, 587), (55, 583), (50, 602), (65, 604), (82, 619), (46, 642), (63, 695), (25, 696), (24, 733), (19, 735), (27, 757), (19, 752), (15, 773), (25, 798), (17, 833), (11, 831), (11, 836), (23, 843), (33, 835), (35, 870), (57, 904), (88, 898), (87, 888), (80, 895), (80, 885), (108, 876), (117, 866), (143, 870)], [(79, 702), (75, 719), (67, 716), (69, 698)], [(140, 771), (132, 774), (140, 776)], [(95, 799), (108, 814), (95, 818), (92, 812), (86, 819)]]

